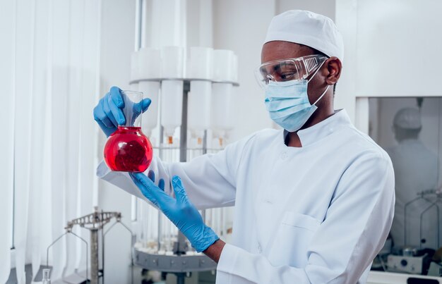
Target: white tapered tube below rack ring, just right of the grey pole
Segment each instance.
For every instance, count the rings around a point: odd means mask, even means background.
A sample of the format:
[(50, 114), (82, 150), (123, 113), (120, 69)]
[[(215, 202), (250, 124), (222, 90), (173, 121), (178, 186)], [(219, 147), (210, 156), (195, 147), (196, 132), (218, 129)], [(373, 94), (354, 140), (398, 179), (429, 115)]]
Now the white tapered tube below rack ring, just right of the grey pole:
[(204, 130), (210, 127), (211, 92), (212, 82), (191, 81), (187, 104), (187, 125), (191, 131), (191, 137), (196, 138), (199, 146), (202, 146)]

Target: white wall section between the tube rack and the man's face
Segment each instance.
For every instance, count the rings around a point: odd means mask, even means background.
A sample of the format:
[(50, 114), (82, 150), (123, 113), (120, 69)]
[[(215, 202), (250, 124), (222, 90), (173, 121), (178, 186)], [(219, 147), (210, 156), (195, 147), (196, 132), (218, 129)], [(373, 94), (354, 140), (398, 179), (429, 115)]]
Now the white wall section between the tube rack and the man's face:
[(275, 15), (275, 1), (223, 0), (213, 2), (213, 44), (238, 56), (239, 87), (234, 88), (234, 130), (230, 141), (272, 126), (264, 105), (263, 90), (253, 75), (261, 64), (261, 47), (268, 24)]

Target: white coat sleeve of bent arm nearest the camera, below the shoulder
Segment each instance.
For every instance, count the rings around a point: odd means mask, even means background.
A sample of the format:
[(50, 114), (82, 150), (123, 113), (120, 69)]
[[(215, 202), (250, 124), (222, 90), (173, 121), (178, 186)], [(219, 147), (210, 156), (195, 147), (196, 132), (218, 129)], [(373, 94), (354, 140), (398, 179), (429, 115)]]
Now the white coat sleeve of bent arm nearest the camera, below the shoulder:
[(394, 203), (390, 159), (366, 154), (342, 175), (325, 220), (311, 239), (305, 267), (273, 266), (262, 254), (225, 245), (217, 283), (359, 283), (383, 247)]

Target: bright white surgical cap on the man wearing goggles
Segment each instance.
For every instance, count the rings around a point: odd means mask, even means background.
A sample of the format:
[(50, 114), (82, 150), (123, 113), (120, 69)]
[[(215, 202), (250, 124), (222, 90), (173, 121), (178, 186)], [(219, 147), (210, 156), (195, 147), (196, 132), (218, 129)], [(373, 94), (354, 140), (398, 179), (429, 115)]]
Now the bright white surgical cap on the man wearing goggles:
[(264, 43), (275, 40), (304, 44), (344, 61), (344, 42), (333, 20), (310, 11), (291, 10), (273, 17)]

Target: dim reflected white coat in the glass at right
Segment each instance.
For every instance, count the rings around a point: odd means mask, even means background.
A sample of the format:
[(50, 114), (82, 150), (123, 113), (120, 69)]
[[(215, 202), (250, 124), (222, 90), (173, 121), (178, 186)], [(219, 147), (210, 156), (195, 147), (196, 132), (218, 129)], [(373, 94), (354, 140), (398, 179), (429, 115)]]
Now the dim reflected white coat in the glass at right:
[[(437, 212), (433, 207), (420, 215), (431, 203), (416, 200), (407, 206), (407, 243), (405, 243), (405, 204), (417, 198), (422, 190), (436, 190), (438, 159), (425, 145), (416, 139), (403, 140), (397, 146), (387, 149), (395, 169), (396, 204), (391, 235), (395, 246), (420, 246), (421, 237), (426, 242), (422, 247), (438, 249)], [(442, 237), (442, 236), (441, 236)], [(442, 243), (442, 238), (439, 240)]]

